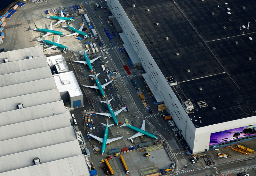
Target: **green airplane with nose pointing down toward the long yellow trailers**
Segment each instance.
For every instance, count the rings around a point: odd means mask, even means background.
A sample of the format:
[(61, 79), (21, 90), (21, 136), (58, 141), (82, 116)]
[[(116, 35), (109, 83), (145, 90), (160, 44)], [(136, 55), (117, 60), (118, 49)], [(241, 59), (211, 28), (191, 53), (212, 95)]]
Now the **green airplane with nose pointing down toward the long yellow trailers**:
[(101, 124), (106, 127), (105, 132), (104, 132), (104, 137), (103, 137), (103, 139), (100, 138), (100, 137), (97, 137), (97, 136), (93, 136), (93, 135), (91, 135), (90, 133), (88, 133), (88, 134), (89, 134), (91, 137), (93, 137), (94, 139), (100, 141), (100, 143), (102, 143), (101, 154), (103, 155), (104, 152), (105, 152), (106, 144), (107, 144), (107, 143), (110, 144), (110, 143), (113, 142), (113, 141), (116, 141), (116, 140), (118, 140), (118, 139), (122, 139), (124, 136), (116, 137), (116, 138), (112, 138), (112, 139), (108, 139), (108, 127), (111, 127), (112, 125), (115, 125), (115, 124), (108, 125), (108, 119), (107, 119), (107, 125), (104, 124), (104, 123), (101, 123)]

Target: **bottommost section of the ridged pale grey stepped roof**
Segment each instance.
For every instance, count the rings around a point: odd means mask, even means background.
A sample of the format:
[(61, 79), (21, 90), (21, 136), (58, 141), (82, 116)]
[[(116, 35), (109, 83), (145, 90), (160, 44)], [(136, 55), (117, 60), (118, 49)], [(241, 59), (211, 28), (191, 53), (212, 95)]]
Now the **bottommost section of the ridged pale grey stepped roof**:
[[(34, 165), (25, 167), (18, 170), (12, 170), (9, 172), (1, 173), (1, 176), (90, 176), (89, 171), (86, 171), (86, 163), (84, 161), (84, 155), (79, 155), (70, 158), (64, 158), (50, 163), (43, 163), (40, 165)], [(79, 168), (79, 169), (78, 169)], [(42, 172), (44, 171), (44, 172)]]

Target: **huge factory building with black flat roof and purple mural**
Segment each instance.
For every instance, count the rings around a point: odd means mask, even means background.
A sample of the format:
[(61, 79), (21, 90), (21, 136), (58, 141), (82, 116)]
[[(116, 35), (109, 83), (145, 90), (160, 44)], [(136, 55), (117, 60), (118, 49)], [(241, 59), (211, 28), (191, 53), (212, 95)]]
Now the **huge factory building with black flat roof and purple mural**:
[(193, 153), (255, 139), (251, 1), (190, 3), (107, 2), (124, 44), (132, 45), (128, 55), (136, 64), (139, 58), (150, 90), (164, 101)]

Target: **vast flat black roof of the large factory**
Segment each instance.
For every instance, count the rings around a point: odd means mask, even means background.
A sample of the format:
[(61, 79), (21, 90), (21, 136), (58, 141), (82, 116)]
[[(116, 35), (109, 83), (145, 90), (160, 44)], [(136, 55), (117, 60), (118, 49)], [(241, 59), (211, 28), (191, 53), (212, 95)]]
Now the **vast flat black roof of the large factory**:
[(119, 2), (196, 127), (256, 115), (256, 1)]

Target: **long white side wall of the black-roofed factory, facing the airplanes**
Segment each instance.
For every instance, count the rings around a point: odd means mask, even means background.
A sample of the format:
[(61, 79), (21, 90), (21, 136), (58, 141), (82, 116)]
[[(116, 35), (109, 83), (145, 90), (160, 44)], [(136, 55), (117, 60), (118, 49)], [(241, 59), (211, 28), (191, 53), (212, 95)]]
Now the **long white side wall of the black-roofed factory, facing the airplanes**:
[[(148, 49), (141, 40), (139, 34), (132, 25), (130, 19), (126, 15), (119, 1), (108, 0), (107, 4), (110, 11), (122, 27), (123, 32), (126, 34), (128, 40), (131, 42), (133, 49), (139, 56), (144, 70), (149, 74), (152, 82), (157, 87), (159, 94), (163, 97), (165, 106), (170, 110), (170, 114), (172, 115), (172, 118), (174, 119), (177, 127), (182, 130), (182, 134), (184, 136), (184, 139), (187, 141), (188, 146), (193, 149), (196, 132), (194, 124), (188, 117), (183, 106), (180, 104), (179, 99), (172, 91), (172, 88), (167, 83), (164, 75), (158, 68), (153, 57), (150, 55)], [(135, 40), (137, 41), (137, 43), (134, 42)], [(198, 143), (198, 145), (200, 144)], [(204, 149), (202, 149), (202, 151), (203, 150)]]

